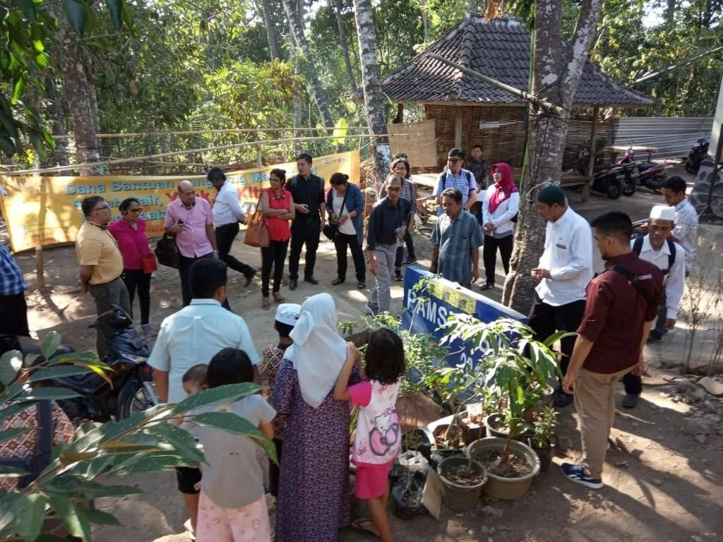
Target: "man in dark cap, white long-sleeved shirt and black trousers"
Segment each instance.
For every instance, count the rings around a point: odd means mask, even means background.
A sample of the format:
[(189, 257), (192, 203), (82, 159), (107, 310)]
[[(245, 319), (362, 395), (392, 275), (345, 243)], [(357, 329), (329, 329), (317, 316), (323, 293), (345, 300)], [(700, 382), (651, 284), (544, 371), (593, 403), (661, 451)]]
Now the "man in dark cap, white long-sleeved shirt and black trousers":
[[(535, 301), (529, 316), (534, 339), (544, 341), (557, 331), (576, 332), (585, 314), (585, 287), (592, 272), (592, 230), (583, 217), (568, 207), (559, 186), (547, 186), (537, 195), (537, 208), (547, 220), (544, 252), (532, 278)], [(568, 371), (575, 337), (560, 340), (562, 377)], [(573, 396), (555, 392), (555, 406), (573, 402)]]

